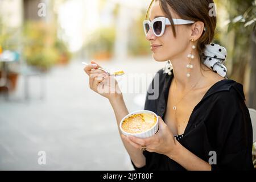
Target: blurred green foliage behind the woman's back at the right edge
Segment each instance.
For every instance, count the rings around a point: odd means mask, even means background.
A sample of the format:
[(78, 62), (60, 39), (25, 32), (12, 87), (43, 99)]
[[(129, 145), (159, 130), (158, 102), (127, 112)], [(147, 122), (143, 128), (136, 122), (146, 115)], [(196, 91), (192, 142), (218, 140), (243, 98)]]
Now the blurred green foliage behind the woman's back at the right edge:
[[(245, 68), (250, 60), (250, 45), (255, 32), (255, 0), (232, 0), (221, 2), (229, 15), (228, 35), (233, 36), (228, 44), (229, 55), (232, 56), (232, 73), (230, 77), (238, 82), (244, 82)], [(222, 32), (225, 34), (225, 32)]]

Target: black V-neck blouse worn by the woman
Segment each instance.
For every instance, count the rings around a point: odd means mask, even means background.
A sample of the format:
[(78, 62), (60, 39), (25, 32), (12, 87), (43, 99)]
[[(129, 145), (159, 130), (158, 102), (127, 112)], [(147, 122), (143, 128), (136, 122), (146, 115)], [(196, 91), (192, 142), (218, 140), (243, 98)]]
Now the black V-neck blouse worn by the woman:
[[(144, 109), (164, 118), (174, 74), (171, 71), (169, 76), (161, 69), (158, 77), (155, 76), (151, 82)], [(159, 88), (154, 88), (156, 78)], [(157, 92), (156, 89), (159, 90), (159, 97), (149, 99), (155, 94), (151, 91)], [(177, 136), (178, 141), (206, 162), (212, 156), (209, 152), (215, 151), (217, 164), (211, 165), (212, 170), (253, 169), (253, 129), (244, 101), (241, 84), (229, 79), (216, 82), (193, 109), (184, 134)], [(166, 155), (148, 151), (143, 151), (143, 155), (146, 157), (146, 166), (137, 168), (131, 161), (136, 170), (185, 170)]]

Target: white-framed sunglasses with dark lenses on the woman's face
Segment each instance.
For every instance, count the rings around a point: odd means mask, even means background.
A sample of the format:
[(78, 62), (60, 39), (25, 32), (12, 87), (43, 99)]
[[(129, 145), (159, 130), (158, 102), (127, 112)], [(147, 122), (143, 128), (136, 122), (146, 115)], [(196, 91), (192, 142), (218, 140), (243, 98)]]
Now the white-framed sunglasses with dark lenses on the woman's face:
[[(192, 20), (185, 20), (185, 19), (172, 19), (174, 21), (174, 24), (193, 24), (195, 21)], [(150, 27), (152, 28), (152, 31), (155, 36), (162, 36), (164, 33), (164, 30), (166, 28), (166, 25), (171, 25), (171, 22), (166, 17), (158, 17), (152, 20), (144, 20), (143, 21), (143, 27), (144, 32), (147, 36), (148, 31), (150, 30)]]

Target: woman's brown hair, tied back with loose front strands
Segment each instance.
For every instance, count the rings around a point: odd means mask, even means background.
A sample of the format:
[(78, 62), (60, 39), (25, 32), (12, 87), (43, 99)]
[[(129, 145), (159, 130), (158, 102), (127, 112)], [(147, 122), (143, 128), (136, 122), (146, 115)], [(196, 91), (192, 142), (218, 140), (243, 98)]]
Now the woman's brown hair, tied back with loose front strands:
[[(159, 1), (162, 11), (164, 14), (166, 14), (171, 24), (174, 22), (170, 13), (170, 7), (182, 19), (200, 21), (204, 23), (206, 31), (203, 32), (197, 43), (197, 51), (199, 52), (199, 55), (202, 56), (205, 49), (205, 44), (209, 44), (213, 40), (217, 23), (216, 16), (209, 16), (209, 4), (214, 3), (213, 0), (152, 0), (147, 10), (146, 19), (148, 16), (148, 11), (150, 10), (150, 7), (154, 1)], [(174, 36), (176, 37), (175, 28), (174, 26), (171, 27), (172, 31), (174, 32)]]

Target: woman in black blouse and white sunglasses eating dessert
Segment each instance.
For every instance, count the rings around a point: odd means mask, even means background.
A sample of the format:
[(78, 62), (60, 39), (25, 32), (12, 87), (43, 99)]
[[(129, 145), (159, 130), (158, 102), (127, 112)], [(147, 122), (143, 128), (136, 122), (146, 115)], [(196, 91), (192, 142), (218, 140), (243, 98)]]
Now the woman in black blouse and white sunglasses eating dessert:
[[(212, 0), (153, 0), (144, 21), (156, 61), (168, 61), (147, 93), (144, 109), (159, 115), (159, 131), (146, 139), (121, 135), (137, 170), (253, 169), (252, 127), (241, 84), (226, 78), (226, 50), (210, 44), (216, 17)], [(148, 14), (147, 13), (147, 14)], [(214, 64), (212, 64), (212, 62)], [(172, 64), (172, 65), (171, 65)], [(129, 112), (117, 82), (92, 61), (90, 88), (109, 99), (117, 124)], [(151, 88), (150, 86), (150, 88)], [(112, 92), (101, 92), (107, 88)], [(152, 90), (151, 90), (152, 91)], [(119, 131), (120, 132), (120, 131)]]

